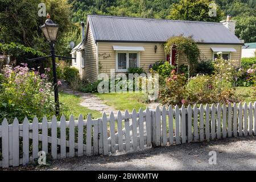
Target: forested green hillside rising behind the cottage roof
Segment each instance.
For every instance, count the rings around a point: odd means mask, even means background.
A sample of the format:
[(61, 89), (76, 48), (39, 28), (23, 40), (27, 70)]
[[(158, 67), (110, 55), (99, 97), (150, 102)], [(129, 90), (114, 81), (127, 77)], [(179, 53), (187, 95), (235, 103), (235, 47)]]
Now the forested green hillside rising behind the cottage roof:
[[(88, 14), (137, 16), (142, 18), (208, 20), (218, 22), (231, 14), (237, 20), (236, 35), (256, 42), (256, 0), (216, 0), (217, 18), (209, 19), (209, 0), (68, 0), (72, 21), (85, 21)], [(180, 2), (181, 1), (181, 2)], [(176, 3), (176, 5), (174, 5)], [(189, 11), (184, 11), (186, 9)], [(202, 14), (205, 14), (202, 15)]]

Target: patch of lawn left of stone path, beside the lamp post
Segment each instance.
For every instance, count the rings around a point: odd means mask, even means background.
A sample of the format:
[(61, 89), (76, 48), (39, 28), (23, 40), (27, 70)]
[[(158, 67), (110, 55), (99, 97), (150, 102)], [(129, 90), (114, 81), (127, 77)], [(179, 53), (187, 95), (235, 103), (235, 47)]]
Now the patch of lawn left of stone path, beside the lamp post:
[(98, 111), (90, 110), (86, 107), (81, 106), (80, 96), (75, 96), (73, 94), (67, 93), (60, 93), (59, 97), (60, 103), (63, 106), (63, 108), (61, 109), (61, 113), (63, 113), (67, 118), (69, 118), (71, 114), (73, 114), (73, 117), (75, 117), (76, 119), (79, 117), (79, 114), (86, 116), (90, 113), (92, 114), (93, 118), (100, 118), (102, 116), (102, 114)]

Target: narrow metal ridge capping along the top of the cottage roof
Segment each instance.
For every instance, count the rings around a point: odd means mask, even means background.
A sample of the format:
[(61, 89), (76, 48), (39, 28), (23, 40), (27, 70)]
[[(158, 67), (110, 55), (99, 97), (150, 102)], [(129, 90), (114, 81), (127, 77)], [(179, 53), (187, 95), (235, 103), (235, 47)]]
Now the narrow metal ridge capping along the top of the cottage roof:
[(142, 20), (158, 20), (158, 21), (166, 21), (166, 22), (188, 22), (188, 23), (209, 23), (209, 24), (222, 24), (220, 22), (200, 22), (200, 21), (192, 21), (192, 20), (174, 20), (174, 19), (158, 19), (158, 18), (141, 18), (134, 16), (114, 16), (114, 15), (90, 15), (88, 16), (103, 16), (110, 18), (123, 18), (123, 19), (142, 19)]

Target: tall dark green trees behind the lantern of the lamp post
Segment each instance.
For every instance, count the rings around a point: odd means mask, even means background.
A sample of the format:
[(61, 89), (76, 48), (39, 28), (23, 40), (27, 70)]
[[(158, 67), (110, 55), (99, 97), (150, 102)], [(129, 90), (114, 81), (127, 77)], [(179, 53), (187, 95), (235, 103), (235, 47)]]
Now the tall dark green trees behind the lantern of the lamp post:
[[(40, 0), (3, 0), (0, 5), (0, 42), (11, 42), (32, 47), (37, 51), (49, 54), (49, 44), (44, 38), (40, 26), (46, 17), (38, 16)], [(59, 24), (56, 43), (56, 52), (69, 55), (63, 51), (65, 35), (68, 34), (71, 24), (71, 5), (67, 0), (46, 0), (46, 11), (51, 15), (53, 22)]]

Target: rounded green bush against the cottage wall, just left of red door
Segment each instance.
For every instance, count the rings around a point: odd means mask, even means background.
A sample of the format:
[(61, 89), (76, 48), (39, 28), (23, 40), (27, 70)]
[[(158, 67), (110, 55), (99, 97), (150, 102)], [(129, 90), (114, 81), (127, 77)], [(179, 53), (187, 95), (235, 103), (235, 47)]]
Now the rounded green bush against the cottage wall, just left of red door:
[(168, 61), (159, 60), (154, 64), (150, 65), (151, 72), (156, 72), (159, 77), (167, 78), (170, 77), (172, 70), (175, 69), (174, 65), (171, 65)]

